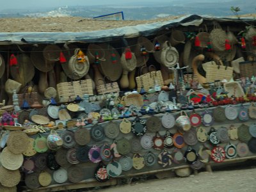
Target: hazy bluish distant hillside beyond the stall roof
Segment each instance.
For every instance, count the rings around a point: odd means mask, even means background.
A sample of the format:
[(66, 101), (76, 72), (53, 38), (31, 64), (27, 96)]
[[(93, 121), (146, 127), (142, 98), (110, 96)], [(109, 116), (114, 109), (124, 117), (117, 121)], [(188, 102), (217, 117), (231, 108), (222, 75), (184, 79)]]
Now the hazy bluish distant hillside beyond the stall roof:
[(105, 15), (115, 12), (124, 12), (125, 20), (148, 20), (166, 17), (170, 15), (214, 15), (227, 16), (233, 15), (230, 11), (231, 6), (238, 6), (241, 9), (239, 14), (255, 13), (255, 0), (235, 0), (214, 2), (202, 0), (190, 0), (186, 3), (182, 1), (170, 0), (168, 3), (148, 3), (140, 2), (134, 4), (125, 4), (122, 6), (104, 5), (104, 6), (63, 6), (60, 8), (35, 8), (35, 10), (2, 10), (0, 17), (62, 17), (76, 16), (92, 18), (99, 15)]

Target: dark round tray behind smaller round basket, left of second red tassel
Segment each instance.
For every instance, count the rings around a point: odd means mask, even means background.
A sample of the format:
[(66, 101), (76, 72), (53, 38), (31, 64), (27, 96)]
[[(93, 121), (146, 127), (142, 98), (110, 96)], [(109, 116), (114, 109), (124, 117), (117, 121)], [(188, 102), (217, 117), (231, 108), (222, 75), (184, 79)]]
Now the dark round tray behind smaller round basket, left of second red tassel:
[(42, 72), (49, 72), (54, 67), (55, 61), (47, 61), (44, 58), (43, 50), (45, 46), (33, 47), (31, 50), (31, 61), (35, 68)]

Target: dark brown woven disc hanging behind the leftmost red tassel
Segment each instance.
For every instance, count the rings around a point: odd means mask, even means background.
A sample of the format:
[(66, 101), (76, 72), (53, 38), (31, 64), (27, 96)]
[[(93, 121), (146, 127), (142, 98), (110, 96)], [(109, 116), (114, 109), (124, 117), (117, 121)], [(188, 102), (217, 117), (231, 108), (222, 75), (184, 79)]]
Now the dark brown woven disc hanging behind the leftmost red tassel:
[(26, 54), (19, 54), (16, 56), (17, 65), (15, 67), (10, 67), (11, 76), (13, 80), (26, 85), (29, 83), (35, 75), (35, 67), (32, 64), (29, 56)]

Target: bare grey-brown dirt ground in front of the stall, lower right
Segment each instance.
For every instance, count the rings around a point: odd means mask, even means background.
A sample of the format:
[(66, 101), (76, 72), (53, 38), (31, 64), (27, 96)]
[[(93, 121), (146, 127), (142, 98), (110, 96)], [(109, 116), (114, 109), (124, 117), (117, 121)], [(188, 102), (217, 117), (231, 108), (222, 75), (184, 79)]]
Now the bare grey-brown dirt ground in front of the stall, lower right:
[(122, 186), (98, 189), (97, 192), (142, 192), (142, 191), (173, 191), (173, 192), (255, 192), (256, 164), (233, 166), (232, 168), (199, 172), (189, 177), (173, 177), (167, 179), (151, 179), (136, 181)]

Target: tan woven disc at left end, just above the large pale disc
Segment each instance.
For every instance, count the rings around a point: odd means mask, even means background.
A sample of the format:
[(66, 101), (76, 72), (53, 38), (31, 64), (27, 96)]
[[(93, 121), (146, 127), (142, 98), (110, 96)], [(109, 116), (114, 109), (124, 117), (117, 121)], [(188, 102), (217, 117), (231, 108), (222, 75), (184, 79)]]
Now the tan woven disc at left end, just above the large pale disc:
[(29, 143), (29, 137), (25, 132), (12, 131), (7, 140), (8, 149), (14, 154), (21, 154), (26, 150)]

